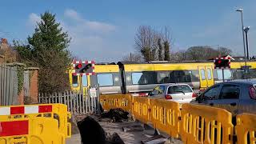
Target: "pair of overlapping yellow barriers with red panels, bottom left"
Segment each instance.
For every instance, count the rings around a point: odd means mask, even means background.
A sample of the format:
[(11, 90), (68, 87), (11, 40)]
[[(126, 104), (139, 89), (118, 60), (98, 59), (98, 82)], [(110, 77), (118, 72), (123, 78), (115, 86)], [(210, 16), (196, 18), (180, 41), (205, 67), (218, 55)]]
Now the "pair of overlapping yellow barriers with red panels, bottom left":
[(2, 106), (0, 144), (62, 144), (71, 136), (69, 121), (63, 104)]

